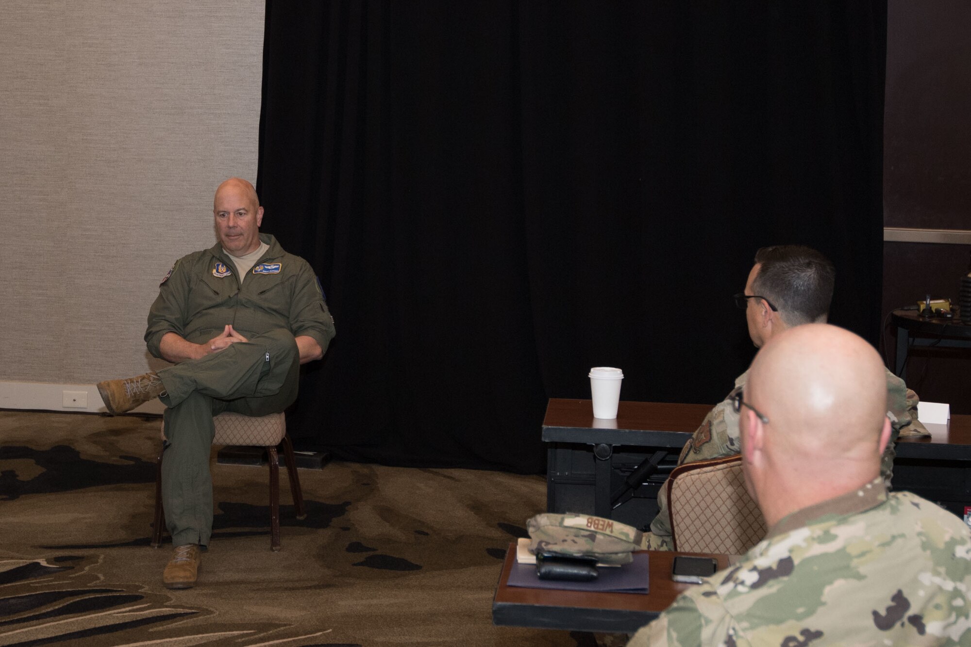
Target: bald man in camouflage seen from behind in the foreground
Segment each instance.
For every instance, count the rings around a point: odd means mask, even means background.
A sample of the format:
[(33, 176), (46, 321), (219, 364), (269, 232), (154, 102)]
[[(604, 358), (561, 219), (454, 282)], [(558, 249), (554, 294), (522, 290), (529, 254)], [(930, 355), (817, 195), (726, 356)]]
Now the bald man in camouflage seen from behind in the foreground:
[(833, 326), (794, 328), (758, 352), (735, 402), (769, 533), (629, 644), (971, 644), (971, 530), (888, 494), (880, 476), (890, 421), (877, 352)]

